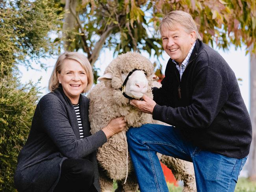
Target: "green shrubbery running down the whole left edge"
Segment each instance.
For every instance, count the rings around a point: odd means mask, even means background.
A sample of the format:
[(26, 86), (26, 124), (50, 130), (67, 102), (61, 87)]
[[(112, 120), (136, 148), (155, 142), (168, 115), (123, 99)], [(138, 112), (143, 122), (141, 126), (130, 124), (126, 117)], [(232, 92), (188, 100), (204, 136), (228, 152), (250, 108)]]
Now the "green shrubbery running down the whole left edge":
[(37, 84), (19, 83), (17, 66), (57, 52), (48, 33), (59, 8), (50, 0), (0, 1), (0, 191), (15, 191), (13, 175), (39, 98)]

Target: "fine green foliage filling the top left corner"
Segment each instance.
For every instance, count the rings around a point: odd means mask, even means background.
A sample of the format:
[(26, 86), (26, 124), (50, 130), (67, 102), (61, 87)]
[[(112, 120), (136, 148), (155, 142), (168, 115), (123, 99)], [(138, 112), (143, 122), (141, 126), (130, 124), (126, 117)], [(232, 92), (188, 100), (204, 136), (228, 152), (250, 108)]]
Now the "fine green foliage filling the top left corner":
[(31, 59), (56, 51), (48, 33), (58, 30), (59, 9), (52, 0), (0, 1), (0, 63), (4, 63), (4, 75), (15, 63), (31, 67)]

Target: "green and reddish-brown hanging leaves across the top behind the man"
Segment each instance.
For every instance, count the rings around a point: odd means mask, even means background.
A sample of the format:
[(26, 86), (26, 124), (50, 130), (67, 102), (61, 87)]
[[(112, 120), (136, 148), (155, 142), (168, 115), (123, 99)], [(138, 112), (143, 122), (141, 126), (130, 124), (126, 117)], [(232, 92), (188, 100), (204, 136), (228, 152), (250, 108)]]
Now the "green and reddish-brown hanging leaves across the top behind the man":
[(190, 13), (197, 23), (199, 34), (207, 44), (215, 42), (222, 48), (228, 48), (230, 43), (235, 46), (241, 46), (242, 43), (250, 46), (256, 42), (255, 1), (81, 0), (80, 7), (87, 5), (94, 11), (85, 12), (86, 7), (83, 10), (77, 9), (82, 16), (80, 18), (85, 18), (83, 24), (89, 34), (87, 41), (90, 41), (90, 45), (93, 46), (94, 41), (91, 39), (94, 39), (94, 34), (101, 35), (108, 26), (113, 26), (110, 38), (104, 46), (113, 46), (120, 53), (136, 50), (137, 46), (138, 50), (146, 50), (149, 54), (151, 50), (157, 50), (156, 53), (159, 54), (161, 40), (156, 30), (163, 16), (173, 10)]

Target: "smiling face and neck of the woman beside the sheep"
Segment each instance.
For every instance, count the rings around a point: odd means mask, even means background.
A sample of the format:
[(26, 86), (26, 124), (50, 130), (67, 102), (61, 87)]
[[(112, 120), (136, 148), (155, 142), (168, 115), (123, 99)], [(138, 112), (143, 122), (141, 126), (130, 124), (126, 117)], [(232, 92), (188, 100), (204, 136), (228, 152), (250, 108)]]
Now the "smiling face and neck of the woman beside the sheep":
[(85, 69), (80, 63), (72, 59), (66, 59), (58, 73), (58, 80), (63, 87), (63, 91), (72, 104), (77, 104), (80, 94), (87, 87), (88, 78)]

